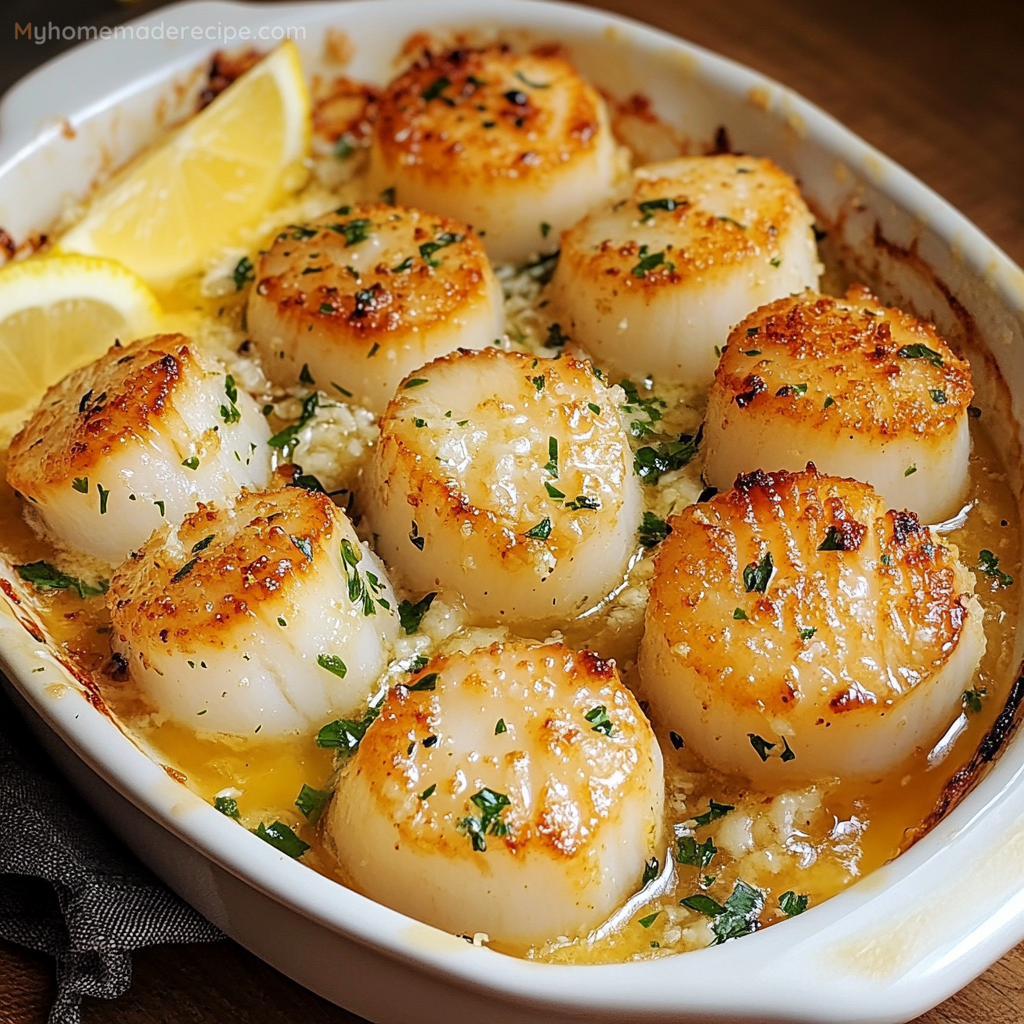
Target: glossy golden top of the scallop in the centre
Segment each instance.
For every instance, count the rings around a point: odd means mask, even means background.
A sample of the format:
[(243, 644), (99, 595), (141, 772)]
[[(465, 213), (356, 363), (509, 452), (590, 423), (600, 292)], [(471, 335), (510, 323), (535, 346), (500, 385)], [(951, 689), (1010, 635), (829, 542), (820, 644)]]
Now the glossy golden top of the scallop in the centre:
[(503, 557), (568, 555), (630, 483), (615, 404), (570, 355), (487, 348), (434, 359), (398, 388), (381, 438), (414, 481), (411, 507), (486, 531)]

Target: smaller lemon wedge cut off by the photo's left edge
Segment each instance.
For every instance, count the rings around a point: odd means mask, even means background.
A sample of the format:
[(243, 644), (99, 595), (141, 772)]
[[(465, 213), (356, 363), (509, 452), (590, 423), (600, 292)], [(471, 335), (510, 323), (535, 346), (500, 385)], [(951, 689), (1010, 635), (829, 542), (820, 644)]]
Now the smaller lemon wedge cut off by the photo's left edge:
[(96, 256), (40, 256), (0, 269), (0, 426), (16, 426), (73, 370), (157, 330), (145, 282)]

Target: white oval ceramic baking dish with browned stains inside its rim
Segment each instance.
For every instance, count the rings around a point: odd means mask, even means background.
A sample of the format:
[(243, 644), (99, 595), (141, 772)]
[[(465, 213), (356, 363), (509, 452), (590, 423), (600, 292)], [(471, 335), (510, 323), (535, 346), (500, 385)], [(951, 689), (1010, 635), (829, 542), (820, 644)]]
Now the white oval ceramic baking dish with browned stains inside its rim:
[[(187, 27), (176, 33), (186, 38), (169, 40), (170, 26)], [(354, 45), (347, 74), (378, 82), (418, 29), (560, 40), (610, 93), (649, 96), (696, 152), (726, 126), (735, 148), (768, 155), (798, 176), (830, 225), (829, 244), (859, 276), (966, 346), (979, 403), (1004, 411), (986, 422), (1019, 490), (1024, 273), (941, 199), (799, 96), (698, 47), (583, 7), (356, 0), (165, 8), (134, 23), (134, 38), (83, 45), (7, 94), (0, 225), (18, 241), (45, 230), (70, 198), (189, 109), (209, 55), (231, 45), (231, 30), (242, 27), (276, 29), (278, 38), (286, 27), (302, 30), (298, 42), (313, 69), (326, 30), (342, 29)], [(741, 941), (610, 967), (555, 967), (474, 947), (279, 854), (174, 781), (90, 702), (87, 686), (18, 607), (18, 586), (8, 575), (0, 596), (0, 664), (72, 781), (228, 935), (373, 1021), (906, 1021), (1024, 937), (1018, 737), (908, 852), (801, 918)], [(1002, 725), (1013, 718), (1011, 709)], [(979, 766), (1012, 732), (1001, 729)]]

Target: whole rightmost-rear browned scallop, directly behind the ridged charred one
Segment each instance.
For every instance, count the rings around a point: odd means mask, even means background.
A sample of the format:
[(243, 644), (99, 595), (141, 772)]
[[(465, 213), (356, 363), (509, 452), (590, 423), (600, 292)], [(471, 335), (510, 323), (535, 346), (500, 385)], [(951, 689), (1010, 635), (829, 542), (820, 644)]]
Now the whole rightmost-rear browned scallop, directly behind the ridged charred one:
[(971, 371), (931, 324), (864, 288), (759, 309), (729, 336), (705, 423), (705, 476), (818, 469), (939, 522), (968, 486)]

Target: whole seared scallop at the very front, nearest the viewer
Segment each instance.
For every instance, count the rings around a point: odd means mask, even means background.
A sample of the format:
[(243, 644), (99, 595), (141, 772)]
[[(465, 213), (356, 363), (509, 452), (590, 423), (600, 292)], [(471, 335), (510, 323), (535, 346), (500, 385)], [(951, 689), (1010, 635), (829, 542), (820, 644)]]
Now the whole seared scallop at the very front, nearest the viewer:
[(371, 898), (516, 945), (573, 936), (640, 887), (662, 754), (614, 664), (522, 641), (391, 690), (325, 834)]

